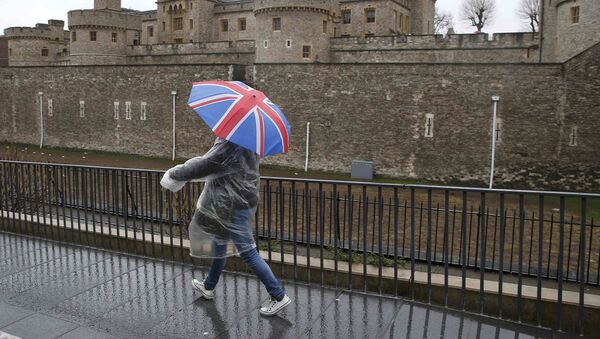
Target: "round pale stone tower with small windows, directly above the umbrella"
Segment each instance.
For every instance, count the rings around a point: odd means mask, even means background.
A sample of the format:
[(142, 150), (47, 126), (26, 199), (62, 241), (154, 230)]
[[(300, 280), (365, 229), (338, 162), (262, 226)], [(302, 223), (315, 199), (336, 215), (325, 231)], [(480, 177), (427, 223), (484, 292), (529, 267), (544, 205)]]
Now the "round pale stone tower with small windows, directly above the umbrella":
[(256, 62), (328, 62), (333, 0), (258, 0)]

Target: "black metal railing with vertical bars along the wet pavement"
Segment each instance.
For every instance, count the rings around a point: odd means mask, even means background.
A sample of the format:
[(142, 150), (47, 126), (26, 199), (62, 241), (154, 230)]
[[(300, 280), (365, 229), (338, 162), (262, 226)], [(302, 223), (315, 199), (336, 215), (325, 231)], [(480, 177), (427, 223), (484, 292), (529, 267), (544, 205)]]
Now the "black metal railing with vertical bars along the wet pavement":
[[(157, 241), (184, 258), (187, 224), (203, 184), (191, 183), (173, 194), (161, 189), (161, 177), (162, 172), (152, 170), (0, 161), (0, 210), (57, 222), (64, 226), (64, 237), (66, 225), (78, 230), (92, 225), (124, 237), (125, 247), (128, 241), (151, 242), (140, 254), (157, 255), (163, 248), (154, 246)], [(294, 278), (304, 269), (309, 281), (324, 283), (327, 262), (332, 262), (336, 283), (347, 280), (345, 287), (367, 291), (368, 271), (375, 268), (375, 290), (381, 292), (389, 279), (395, 295), (415, 298), (415, 276), (421, 271), (430, 302), (432, 276), (441, 274), (445, 306), (465, 309), (466, 281), (474, 277), (480, 283), (476, 308), (489, 313), (484, 281), (492, 279), (498, 282), (495, 312), (501, 318), (503, 283), (510, 281), (517, 286), (519, 321), (524, 286), (536, 289), (533, 318), (539, 325), (542, 290), (552, 286), (558, 291), (558, 329), (569, 284), (580, 296), (577, 328), (583, 331), (585, 289), (600, 284), (598, 213), (599, 194), (263, 177), (253, 227), (270, 262), (280, 255), (283, 272), (284, 255), (292, 255)], [(5, 217), (2, 227), (16, 226)], [(29, 227), (40, 236), (48, 232)], [(91, 241), (94, 245), (96, 239)], [(121, 250), (121, 242), (116, 246)], [(175, 258), (175, 251), (170, 255)], [(298, 265), (299, 256), (305, 266)], [(313, 268), (320, 277), (311, 278)], [(384, 274), (388, 269), (393, 276)], [(406, 291), (400, 284), (402, 270), (410, 272)], [(358, 284), (356, 274), (364, 278)], [(462, 281), (459, 305), (449, 305), (452, 275)]]

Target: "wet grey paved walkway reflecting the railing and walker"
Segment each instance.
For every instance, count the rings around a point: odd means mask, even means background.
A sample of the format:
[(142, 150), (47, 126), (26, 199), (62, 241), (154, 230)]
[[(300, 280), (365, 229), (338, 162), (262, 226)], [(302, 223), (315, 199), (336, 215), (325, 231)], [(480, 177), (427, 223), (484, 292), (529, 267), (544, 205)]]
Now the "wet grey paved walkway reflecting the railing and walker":
[(293, 304), (265, 318), (259, 281), (0, 232), (0, 338), (548, 338), (543, 329), (399, 299), (284, 281)]

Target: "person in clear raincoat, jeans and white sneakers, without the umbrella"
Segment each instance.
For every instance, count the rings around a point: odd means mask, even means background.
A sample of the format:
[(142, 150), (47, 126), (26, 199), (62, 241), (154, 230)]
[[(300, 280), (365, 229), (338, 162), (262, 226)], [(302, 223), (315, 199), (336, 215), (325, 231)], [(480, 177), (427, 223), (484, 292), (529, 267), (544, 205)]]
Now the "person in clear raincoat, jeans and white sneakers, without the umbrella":
[(189, 226), (190, 255), (213, 259), (208, 276), (204, 280), (194, 279), (193, 289), (204, 299), (214, 299), (226, 258), (239, 253), (271, 296), (260, 308), (262, 315), (271, 316), (291, 300), (258, 254), (252, 235), (251, 218), (259, 201), (259, 161), (254, 152), (217, 138), (204, 156), (169, 169), (161, 185), (178, 192), (187, 182), (206, 180)]

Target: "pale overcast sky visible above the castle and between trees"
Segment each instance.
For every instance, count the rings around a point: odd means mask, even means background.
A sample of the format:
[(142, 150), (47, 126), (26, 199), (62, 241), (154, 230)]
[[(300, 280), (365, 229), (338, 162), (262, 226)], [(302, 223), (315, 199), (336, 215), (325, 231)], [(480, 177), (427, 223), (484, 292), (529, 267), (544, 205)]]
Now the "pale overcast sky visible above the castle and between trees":
[[(519, 2), (520, 0), (496, 0), (496, 19), (483, 30), (487, 33), (526, 30), (526, 25), (515, 14)], [(36, 23), (48, 22), (48, 19), (64, 20), (66, 23), (68, 11), (92, 8), (93, 3), (93, 0), (0, 0), (0, 32), (7, 27), (35, 26)], [(123, 0), (122, 3), (125, 8), (156, 9), (154, 0)], [(437, 7), (452, 12), (457, 33), (471, 33), (474, 29), (459, 20), (461, 3), (462, 0), (437, 0)]]

